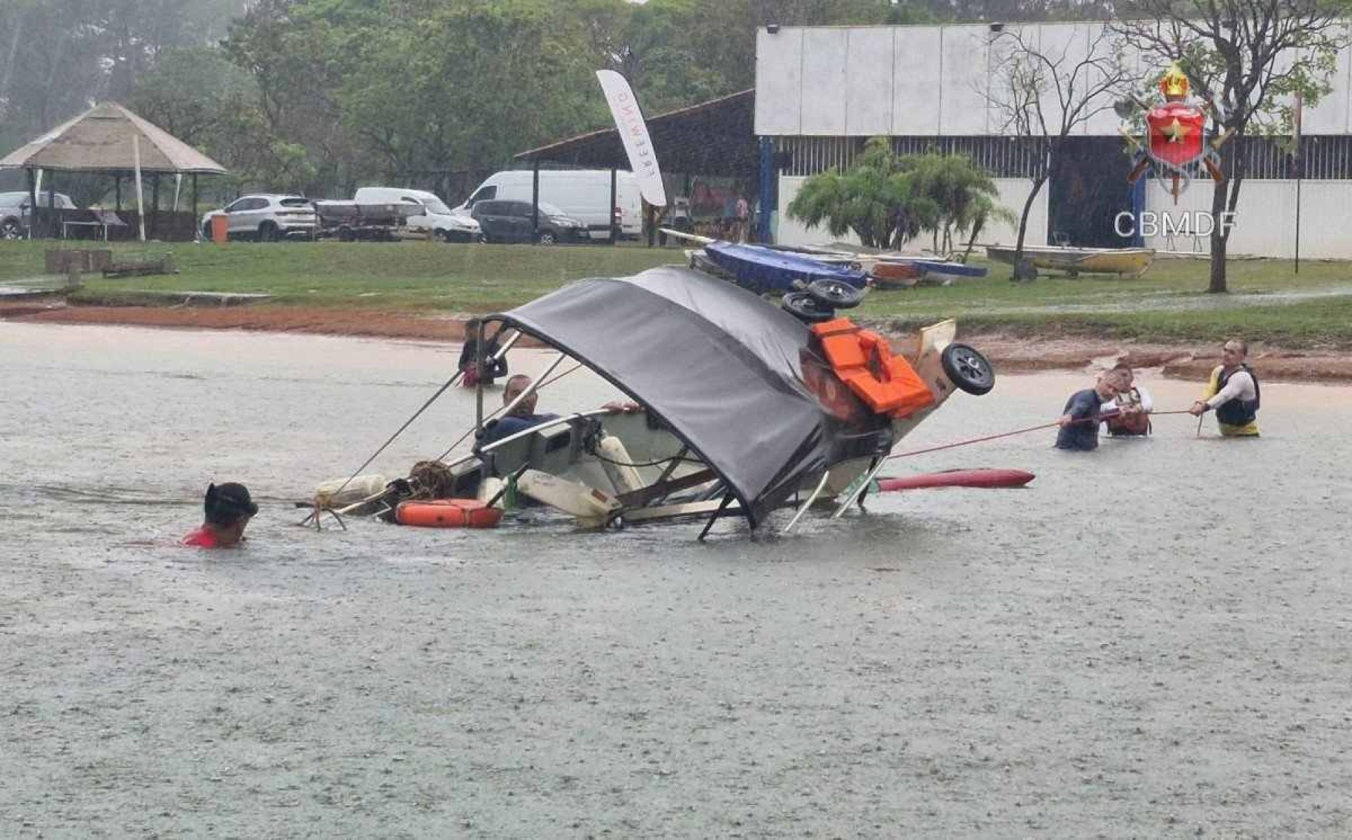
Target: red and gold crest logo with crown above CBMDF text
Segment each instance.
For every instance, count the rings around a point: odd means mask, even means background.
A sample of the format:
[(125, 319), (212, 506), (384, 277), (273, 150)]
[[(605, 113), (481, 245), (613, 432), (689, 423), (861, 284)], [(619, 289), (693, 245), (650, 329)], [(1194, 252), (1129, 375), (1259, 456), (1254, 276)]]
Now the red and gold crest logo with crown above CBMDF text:
[[(1136, 182), (1141, 176), (1152, 174), (1174, 196), (1175, 204), (1192, 178), (1203, 172), (1215, 181), (1224, 180), (1220, 149), (1229, 132), (1207, 139), (1207, 112), (1215, 116), (1215, 105), (1188, 103), (1190, 89), (1187, 74), (1176, 63), (1172, 65), (1160, 80), (1164, 103), (1145, 111), (1145, 136), (1136, 138), (1124, 131), (1136, 150), (1136, 163), (1128, 180)], [(1130, 104), (1125, 111), (1118, 109), (1122, 116), (1130, 112)]]

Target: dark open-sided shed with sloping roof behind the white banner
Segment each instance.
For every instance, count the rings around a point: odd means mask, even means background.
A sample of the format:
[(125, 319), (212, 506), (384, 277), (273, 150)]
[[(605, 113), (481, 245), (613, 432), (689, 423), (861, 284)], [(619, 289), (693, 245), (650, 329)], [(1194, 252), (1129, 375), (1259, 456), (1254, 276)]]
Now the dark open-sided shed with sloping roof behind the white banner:
[[(684, 177), (696, 176), (727, 178), (752, 185), (761, 194), (761, 235), (768, 232), (769, 208), (765, 201), (767, 184), (772, 182), (771, 147), (756, 138), (756, 90), (741, 90), (719, 99), (677, 108), (646, 117), (648, 132), (662, 173)], [(592, 169), (629, 169), (629, 157), (617, 128), (589, 131), (576, 136), (530, 149), (515, 155), (515, 161), (533, 167), (584, 166)]]

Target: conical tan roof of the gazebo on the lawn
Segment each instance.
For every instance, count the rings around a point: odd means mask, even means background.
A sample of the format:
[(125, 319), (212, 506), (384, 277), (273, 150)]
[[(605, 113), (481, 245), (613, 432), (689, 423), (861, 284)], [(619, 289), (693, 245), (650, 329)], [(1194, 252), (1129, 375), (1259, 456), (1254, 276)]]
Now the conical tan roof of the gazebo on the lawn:
[[(132, 149), (137, 138), (139, 150)], [(226, 167), (118, 103), (100, 103), (0, 159), (0, 169), (224, 174)]]

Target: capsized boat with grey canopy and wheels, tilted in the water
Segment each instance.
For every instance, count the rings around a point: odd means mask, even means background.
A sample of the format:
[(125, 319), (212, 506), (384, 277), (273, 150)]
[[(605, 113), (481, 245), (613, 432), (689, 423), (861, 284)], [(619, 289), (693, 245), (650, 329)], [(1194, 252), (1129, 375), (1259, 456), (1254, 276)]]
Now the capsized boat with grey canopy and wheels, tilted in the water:
[(817, 500), (837, 500), (842, 513), (955, 392), (994, 386), (986, 359), (953, 342), (952, 320), (922, 330), (903, 358), (834, 312), (792, 312), (667, 266), (579, 281), (488, 316), (504, 348), (531, 336), (560, 352), (556, 366), (589, 367), (642, 411), (580, 412), (498, 440), (485, 423), (484, 443), (437, 462), (437, 497), (525, 496), (585, 528), (704, 516), (706, 532), (725, 515), (757, 529), (794, 505), (792, 525)]

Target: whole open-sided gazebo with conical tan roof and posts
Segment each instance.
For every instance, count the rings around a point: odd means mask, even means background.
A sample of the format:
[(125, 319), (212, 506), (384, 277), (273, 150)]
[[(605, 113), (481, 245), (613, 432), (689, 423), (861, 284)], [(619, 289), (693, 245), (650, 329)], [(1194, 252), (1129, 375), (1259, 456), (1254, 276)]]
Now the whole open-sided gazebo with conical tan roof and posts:
[[(47, 204), (38, 207), (38, 172), (84, 172), (101, 173), (114, 178), (116, 207), (122, 209), (122, 180), (131, 178), (137, 189), (137, 205), (141, 212), (139, 230), (145, 238), (145, 203), (142, 200), (142, 177), (150, 176), (151, 213), (150, 232), (181, 234), (169, 219), (169, 231), (161, 231), (160, 176), (192, 176), (192, 207), (197, 207), (197, 176), (226, 174), (226, 167), (201, 154), (192, 146), (174, 138), (168, 131), (154, 126), (118, 103), (100, 103), (80, 116), (57, 126), (38, 139), (19, 147), (0, 159), (0, 169), (23, 169), (28, 174), (28, 201), (31, 211), (30, 236), (35, 236), (46, 223), (46, 234), (57, 236), (70, 224), (103, 226), (107, 236), (110, 219), (91, 221), (74, 220), (78, 213), (55, 207), (55, 178), (49, 177)], [(195, 213), (189, 213), (192, 216)], [(72, 216), (68, 219), (66, 216)], [(196, 219), (189, 220), (187, 231), (196, 235)], [(114, 223), (118, 224), (118, 223)], [(128, 226), (130, 227), (130, 226)]]

